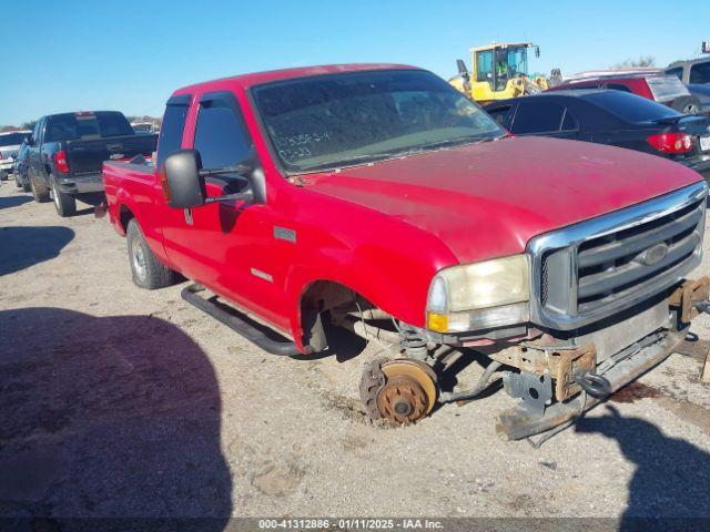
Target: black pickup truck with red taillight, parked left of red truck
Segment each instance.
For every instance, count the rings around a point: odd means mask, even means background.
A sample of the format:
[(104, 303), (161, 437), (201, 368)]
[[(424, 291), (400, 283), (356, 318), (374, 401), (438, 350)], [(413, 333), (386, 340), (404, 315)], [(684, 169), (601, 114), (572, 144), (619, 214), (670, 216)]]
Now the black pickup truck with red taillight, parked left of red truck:
[(27, 143), (34, 201), (53, 197), (59, 215), (71, 216), (77, 200), (97, 204), (103, 198), (104, 161), (150, 157), (158, 135), (136, 134), (120, 112), (91, 111), (42, 116)]

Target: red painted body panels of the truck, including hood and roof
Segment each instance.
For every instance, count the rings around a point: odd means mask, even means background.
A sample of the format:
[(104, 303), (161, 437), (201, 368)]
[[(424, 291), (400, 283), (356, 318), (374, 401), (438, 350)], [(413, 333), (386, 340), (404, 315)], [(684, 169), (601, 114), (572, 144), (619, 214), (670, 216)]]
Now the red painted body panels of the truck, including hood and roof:
[[(254, 139), (267, 185), (265, 205), (209, 204), (193, 225), (170, 208), (158, 175), (104, 165), (110, 219), (124, 234), (133, 213), (158, 257), (251, 310), (301, 345), (300, 298), (316, 280), (341, 283), (382, 309), (424, 326), (437, 270), (523, 253), (536, 235), (699, 181), (681, 165), (639, 152), (570, 141), (516, 137), (393, 160), (339, 173), (277, 170), (246, 91), (286, 78), (410, 68), (336, 65), (247, 74), (181, 89), (192, 94), (183, 147), (192, 147), (204, 92), (232, 91)], [(210, 195), (220, 191), (210, 188)], [(295, 244), (274, 239), (293, 229)], [(255, 277), (251, 268), (273, 277)]]

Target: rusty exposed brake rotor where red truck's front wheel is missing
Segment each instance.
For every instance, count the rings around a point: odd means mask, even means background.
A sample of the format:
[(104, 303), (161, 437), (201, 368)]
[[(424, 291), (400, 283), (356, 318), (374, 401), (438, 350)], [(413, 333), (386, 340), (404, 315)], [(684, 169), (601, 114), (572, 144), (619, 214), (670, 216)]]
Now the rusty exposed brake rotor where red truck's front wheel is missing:
[(361, 397), (371, 417), (414, 423), (436, 403), (436, 374), (418, 360), (378, 359), (365, 369)]

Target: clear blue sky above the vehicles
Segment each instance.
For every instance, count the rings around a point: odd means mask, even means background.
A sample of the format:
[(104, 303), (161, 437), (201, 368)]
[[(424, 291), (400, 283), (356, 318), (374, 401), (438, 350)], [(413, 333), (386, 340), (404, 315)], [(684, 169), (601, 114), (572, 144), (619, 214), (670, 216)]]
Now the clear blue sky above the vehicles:
[(710, 0), (14, 0), (2, 17), (0, 124), (160, 115), (181, 85), (308, 64), (403, 62), (447, 78), (493, 40), (534, 41), (532, 69), (572, 73), (641, 54), (666, 65), (710, 39)]

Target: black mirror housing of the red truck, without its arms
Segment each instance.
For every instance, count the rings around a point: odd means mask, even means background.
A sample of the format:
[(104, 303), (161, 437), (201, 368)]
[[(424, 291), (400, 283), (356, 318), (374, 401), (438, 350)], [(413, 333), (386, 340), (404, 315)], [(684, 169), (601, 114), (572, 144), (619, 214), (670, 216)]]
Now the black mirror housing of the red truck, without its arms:
[(181, 150), (165, 157), (161, 184), (168, 205), (191, 208), (205, 204), (207, 192), (204, 176), (200, 175), (201, 164), (196, 150)]

